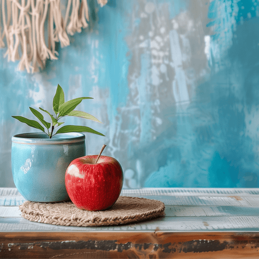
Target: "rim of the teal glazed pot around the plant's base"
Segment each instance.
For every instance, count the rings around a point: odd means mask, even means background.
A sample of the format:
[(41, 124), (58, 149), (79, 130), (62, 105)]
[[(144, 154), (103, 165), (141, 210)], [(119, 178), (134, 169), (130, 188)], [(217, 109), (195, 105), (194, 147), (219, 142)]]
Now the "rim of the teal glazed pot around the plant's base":
[(60, 133), (52, 138), (48, 138), (48, 135), (43, 132), (30, 132), (14, 135), (12, 142), (27, 145), (49, 145), (84, 142), (85, 139), (86, 136), (78, 132)]

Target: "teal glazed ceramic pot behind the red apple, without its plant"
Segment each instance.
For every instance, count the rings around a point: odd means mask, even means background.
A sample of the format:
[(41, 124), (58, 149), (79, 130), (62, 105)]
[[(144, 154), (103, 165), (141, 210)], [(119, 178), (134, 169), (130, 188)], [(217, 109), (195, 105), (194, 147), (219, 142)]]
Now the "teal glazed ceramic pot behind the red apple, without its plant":
[(85, 138), (81, 133), (12, 137), (12, 173), (21, 195), (32, 202), (69, 200), (65, 173), (72, 160), (86, 155)]

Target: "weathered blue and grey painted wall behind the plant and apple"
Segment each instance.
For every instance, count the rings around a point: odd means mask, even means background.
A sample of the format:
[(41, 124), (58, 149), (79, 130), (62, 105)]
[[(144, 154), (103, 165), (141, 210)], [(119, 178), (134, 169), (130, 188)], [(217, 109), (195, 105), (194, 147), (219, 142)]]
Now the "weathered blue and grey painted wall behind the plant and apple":
[(109, 0), (90, 29), (33, 75), (0, 50), (0, 187), (14, 186), (11, 137), (29, 106), (66, 100), (104, 124), (69, 118), (87, 154), (116, 157), (124, 188), (259, 187), (258, 0)]

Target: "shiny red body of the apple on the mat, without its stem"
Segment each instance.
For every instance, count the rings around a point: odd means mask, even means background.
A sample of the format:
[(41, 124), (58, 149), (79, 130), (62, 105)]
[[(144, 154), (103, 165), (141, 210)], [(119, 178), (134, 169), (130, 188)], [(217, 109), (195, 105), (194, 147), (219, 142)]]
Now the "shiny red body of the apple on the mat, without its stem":
[(65, 175), (66, 188), (76, 207), (86, 210), (104, 210), (112, 207), (120, 196), (123, 172), (113, 157), (86, 155), (74, 159)]

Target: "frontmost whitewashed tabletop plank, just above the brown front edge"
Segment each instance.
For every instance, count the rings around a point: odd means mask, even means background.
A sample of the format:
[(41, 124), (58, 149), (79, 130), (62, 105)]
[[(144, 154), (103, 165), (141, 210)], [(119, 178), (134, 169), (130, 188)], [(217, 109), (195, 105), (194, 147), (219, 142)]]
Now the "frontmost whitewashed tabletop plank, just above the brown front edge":
[(155, 229), (170, 232), (259, 231), (259, 217), (161, 217), (133, 224), (102, 227), (59, 226), (30, 222), (24, 218), (0, 218), (0, 232), (92, 232), (92, 231), (147, 231)]

